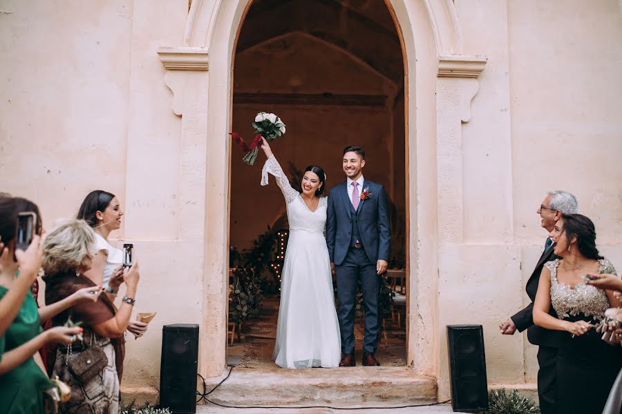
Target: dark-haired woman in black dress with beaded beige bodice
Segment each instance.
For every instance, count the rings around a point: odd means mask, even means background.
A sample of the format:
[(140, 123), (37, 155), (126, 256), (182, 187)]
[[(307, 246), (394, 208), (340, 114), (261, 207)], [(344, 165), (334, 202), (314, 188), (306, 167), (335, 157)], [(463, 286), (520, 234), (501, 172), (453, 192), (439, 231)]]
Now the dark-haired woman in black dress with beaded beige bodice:
[[(561, 259), (542, 270), (534, 323), (567, 333), (556, 365), (558, 413), (601, 414), (622, 367), (622, 352), (619, 345), (601, 341), (593, 328), (620, 302), (613, 290), (587, 284), (585, 275), (616, 270), (599, 254), (594, 224), (584, 215), (562, 215), (549, 237)], [(551, 306), (558, 318), (549, 315)]]

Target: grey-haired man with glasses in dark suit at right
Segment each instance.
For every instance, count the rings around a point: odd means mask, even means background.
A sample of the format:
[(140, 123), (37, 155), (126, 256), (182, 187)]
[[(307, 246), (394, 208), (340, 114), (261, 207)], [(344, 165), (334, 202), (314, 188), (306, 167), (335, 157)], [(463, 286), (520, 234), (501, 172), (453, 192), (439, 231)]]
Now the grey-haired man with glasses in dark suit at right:
[[(578, 206), (574, 195), (559, 190), (549, 191), (536, 211), (540, 215), (542, 219), (541, 225), (547, 230), (547, 233), (553, 230), (555, 223), (562, 214), (574, 214), (577, 212)], [(534, 272), (531, 273), (531, 277), (527, 281), (527, 286), (525, 286), (531, 303), (499, 326), (503, 335), (513, 335), (517, 329), (518, 332), (527, 329), (529, 342), (539, 346), (538, 399), (540, 400), (540, 411), (542, 414), (556, 413), (555, 365), (560, 342), (560, 331), (549, 331), (534, 325), (531, 311), (534, 308), (534, 300), (536, 300), (540, 272), (546, 262), (557, 258), (553, 253), (552, 244), (552, 239), (547, 237), (545, 249), (540, 256), (540, 260), (538, 260), (538, 264), (536, 264)], [(551, 308), (550, 313), (557, 317), (553, 308)]]

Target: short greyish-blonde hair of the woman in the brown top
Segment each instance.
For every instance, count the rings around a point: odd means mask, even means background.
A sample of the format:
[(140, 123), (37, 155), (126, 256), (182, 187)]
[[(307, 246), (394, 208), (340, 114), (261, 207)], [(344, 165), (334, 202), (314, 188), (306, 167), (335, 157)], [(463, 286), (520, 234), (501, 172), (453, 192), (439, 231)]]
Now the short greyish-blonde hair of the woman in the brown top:
[(86, 255), (95, 255), (95, 232), (84, 220), (59, 221), (41, 246), (46, 275), (75, 271)]

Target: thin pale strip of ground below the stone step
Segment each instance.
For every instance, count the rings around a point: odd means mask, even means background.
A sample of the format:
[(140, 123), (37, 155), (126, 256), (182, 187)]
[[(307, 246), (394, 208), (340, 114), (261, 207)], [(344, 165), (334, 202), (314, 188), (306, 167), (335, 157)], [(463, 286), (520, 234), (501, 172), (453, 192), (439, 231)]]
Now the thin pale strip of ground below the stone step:
[(370, 408), (361, 409), (334, 409), (334, 408), (222, 408), (214, 405), (198, 406), (196, 409), (198, 414), (208, 413), (241, 413), (241, 414), (267, 414), (267, 413), (279, 413), (279, 414), (371, 414), (371, 413), (390, 413), (390, 414), (449, 414), (453, 413), (451, 404), (440, 404), (437, 406), (420, 406), (409, 408), (379, 408), (373, 406)]

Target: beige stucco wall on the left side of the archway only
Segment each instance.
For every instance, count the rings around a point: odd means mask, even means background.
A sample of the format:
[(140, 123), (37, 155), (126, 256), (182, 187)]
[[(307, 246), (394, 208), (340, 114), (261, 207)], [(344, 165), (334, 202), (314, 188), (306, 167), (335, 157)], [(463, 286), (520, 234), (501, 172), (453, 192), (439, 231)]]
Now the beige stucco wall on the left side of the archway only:
[(126, 216), (111, 238), (137, 248), (135, 312), (158, 311), (148, 335), (128, 337), (124, 386), (151, 394), (162, 325), (201, 314), (202, 246), (191, 233), (202, 235), (202, 214), (191, 224), (178, 217), (187, 205), (202, 213), (204, 187), (182, 198), (180, 164), (196, 148), (180, 143), (155, 52), (180, 41), (186, 17), (187, 1), (0, 2), (0, 50), (11, 62), (0, 68), (1, 190), (36, 201), (46, 228), (75, 217), (90, 190), (120, 198)]

